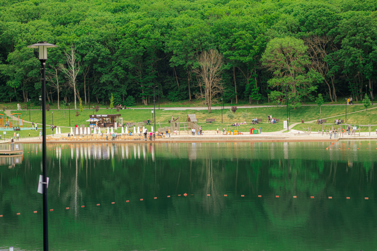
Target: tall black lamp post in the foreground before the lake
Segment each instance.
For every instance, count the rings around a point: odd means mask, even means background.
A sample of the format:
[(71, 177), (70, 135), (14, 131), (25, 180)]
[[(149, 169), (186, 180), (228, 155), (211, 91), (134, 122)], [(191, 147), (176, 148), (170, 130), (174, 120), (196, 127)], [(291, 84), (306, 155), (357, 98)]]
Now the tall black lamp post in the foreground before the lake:
[(47, 48), (58, 47), (55, 44), (49, 44), (46, 41), (38, 42), (37, 44), (29, 45), (28, 48), (38, 48), (39, 61), (41, 62), (42, 70), (42, 194), (43, 194), (43, 250), (48, 251), (48, 216), (47, 216), (47, 152), (46, 152), (46, 61)]

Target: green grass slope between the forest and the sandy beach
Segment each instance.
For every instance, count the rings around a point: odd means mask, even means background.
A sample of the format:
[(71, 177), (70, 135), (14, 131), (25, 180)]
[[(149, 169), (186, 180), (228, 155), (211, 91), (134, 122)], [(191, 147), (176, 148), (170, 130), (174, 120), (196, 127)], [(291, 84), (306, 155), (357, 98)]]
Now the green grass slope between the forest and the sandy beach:
[[(343, 106), (323, 106), (322, 107), (322, 114), (319, 114), (319, 107), (317, 106), (302, 106), (297, 109), (291, 109), (290, 111), (290, 118), (291, 123), (294, 122), (301, 122), (301, 119), (304, 119), (305, 121), (310, 121), (318, 118), (326, 118), (330, 116), (336, 116), (339, 114), (342, 114), (345, 112), (345, 107)], [(349, 112), (355, 112), (359, 110), (363, 110), (363, 106), (348, 106), (347, 107), (347, 113)], [(241, 131), (248, 131), (252, 126), (251, 125), (251, 119), (253, 117), (256, 118), (262, 118), (263, 122), (255, 125), (254, 128), (261, 127), (262, 132), (273, 132), (283, 129), (283, 123), (282, 121), (287, 116), (287, 109), (286, 107), (257, 107), (257, 108), (239, 108), (236, 111), (236, 116), (232, 121), (229, 121), (229, 119), (226, 118), (225, 112), (227, 109), (223, 110), (223, 123), (221, 123), (221, 110), (212, 110), (212, 112), (209, 114), (207, 110), (158, 110), (156, 109), (156, 121), (161, 122), (161, 127), (167, 126), (167, 122), (169, 119), (174, 116), (174, 118), (177, 118), (180, 116), (180, 121), (185, 122), (187, 119), (187, 114), (196, 114), (196, 118), (198, 119), (199, 126), (202, 126), (204, 130), (216, 130), (218, 127), (219, 129), (222, 129), (226, 125), (228, 125), (228, 128), (234, 128), (229, 127), (230, 123), (234, 122), (242, 122), (241, 114), (242, 111), (246, 110), (248, 112), (248, 119), (247, 122), (248, 125), (242, 125), (239, 127)], [(14, 111), (12, 111), (14, 112)], [(69, 110), (53, 110), (46, 113), (46, 123), (49, 126), (52, 124), (52, 112), (54, 112), (54, 125), (55, 126), (69, 126)], [(20, 112), (23, 116), (23, 119), (28, 121), (29, 120), (29, 111), (22, 110)], [(64, 115), (65, 113), (65, 115)], [(118, 113), (115, 109), (111, 112), (110, 109), (100, 110), (98, 114), (114, 114)], [(150, 119), (152, 121), (152, 113), (149, 109), (127, 109), (127, 110), (120, 110), (119, 113), (121, 114), (121, 117), (123, 117), (123, 122), (141, 122), (143, 120)], [(75, 116), (76, 112), (75, 110), (70, 110), (70, 126), (74, 127), (75, 124), (85, 124), (87, 125), (88, 122), (86, 122), (87, 119), (89, 119), (89, 115), (93, 114), (93, 110), (86, 109), (83, 111), (83, 115), (80, 115), (78, 117)], [(272, 114), (273, 117), (279, 118), (280, 122), (277, 124), (269, 124), (267, 122), (267, 115)], [(365, 112), (362, 113), (355, 113), (355, 114), (349, 114), (347, 115), (347, 122), (352, 123), (362, 123), (362, 124), (368, 124), (371, 123), (370, 121), (377, 121), (377, 109), (376, 110), (370, 110), (369, 116), (366, 116)], [(31, 110), (31, 121), (35, 121), (38, 123), (38, 125), (41, 124), (41, 118), (42, 118), (42, 112), (40, 110)], [(65, 118), (64, 118), (65, 116)], [(207, 118), (215, 118), (216, 122), (212, 123), (205, 123), (205, 119)], [(345, 116), (339, 116), (339, 119), (345, 119)], [(333, 120), (333, 119), (329, 119)], [(369, 121), (369, 122), (368, 122)], [(25, 126), (28, 125), (25, 123)], [(30, 125), (30, 124), (29, 124)], [(157, 123), (156, 123), (157, 126)], [(302, 126), (297, 126), (297, 128), (300, 128), (302, 130)], [(63, 129), (63, 128), (62, 128)], [(51, 129), (48, 129), (51, 130)], [(67, 131), (69, 132), (69, 131)]]

